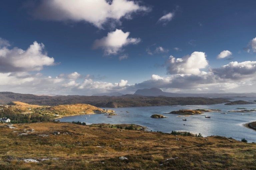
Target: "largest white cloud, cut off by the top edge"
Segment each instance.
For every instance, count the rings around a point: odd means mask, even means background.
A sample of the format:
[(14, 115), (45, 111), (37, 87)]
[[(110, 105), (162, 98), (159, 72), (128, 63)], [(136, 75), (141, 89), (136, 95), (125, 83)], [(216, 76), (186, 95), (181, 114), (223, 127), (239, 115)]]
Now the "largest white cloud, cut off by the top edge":
[(86, 21), (98, 28), (108, 22), (120, 23), (137, 12), (150, 9), (130, 0), (41, 0), (34, 10), (39, 19), (53, 21)]

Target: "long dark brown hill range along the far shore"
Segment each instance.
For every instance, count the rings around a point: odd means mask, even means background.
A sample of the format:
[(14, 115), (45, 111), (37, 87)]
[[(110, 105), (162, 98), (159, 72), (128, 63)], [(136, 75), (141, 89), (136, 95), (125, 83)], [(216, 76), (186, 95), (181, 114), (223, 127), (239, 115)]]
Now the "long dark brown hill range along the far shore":
[[(3, 96), (3, 97), (2, 97)], [(89, 104), (96, 107), (118, 108), (118, 107), (140, 107), (140, 106), (167, 106), (167, 105), (211, 105), (228, 103), (230, 101), (222, 98), (203, 97), (165, 97), (165, 96), (36, 96), (30, 94), (19, 94), (12, 92), (0, 92), (0, 104), (12, 101), (21, 101), (28, 104), (55, 106), (65, 104)]]

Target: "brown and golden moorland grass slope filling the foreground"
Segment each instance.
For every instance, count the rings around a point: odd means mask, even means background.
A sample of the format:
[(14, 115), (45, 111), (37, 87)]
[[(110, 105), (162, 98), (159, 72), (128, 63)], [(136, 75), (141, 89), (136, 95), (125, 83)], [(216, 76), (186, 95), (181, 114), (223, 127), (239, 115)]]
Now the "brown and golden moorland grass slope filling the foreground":
[[(0, 127), (0, 169), (256, 169), (254, 143), (220, 136), (200, 138), (71, 123), (15, 127)], [(19, 135), (32, 128), (34, 132)], [(24, 162), (43, 158), (57, 159)]]

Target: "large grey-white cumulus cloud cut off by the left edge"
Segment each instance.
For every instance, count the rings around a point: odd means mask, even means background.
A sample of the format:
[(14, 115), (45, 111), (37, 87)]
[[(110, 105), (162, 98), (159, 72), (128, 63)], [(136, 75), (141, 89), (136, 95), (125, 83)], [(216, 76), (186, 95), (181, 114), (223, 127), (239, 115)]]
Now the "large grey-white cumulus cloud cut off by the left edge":
[(54, 58), (43, 51), (43, 43), (34, 42), (26, 50), (9, 49), (6, 45), (0, 47), (0, 72), (39, 71), (43, 66), (54, 65)]

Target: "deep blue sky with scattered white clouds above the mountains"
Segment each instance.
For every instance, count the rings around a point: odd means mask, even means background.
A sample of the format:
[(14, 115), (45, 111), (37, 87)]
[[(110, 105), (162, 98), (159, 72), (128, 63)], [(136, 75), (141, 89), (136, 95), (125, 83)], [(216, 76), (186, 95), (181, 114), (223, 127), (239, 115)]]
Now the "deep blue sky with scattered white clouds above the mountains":
[(255, 0), (2, 0), (0, 91), (256, 92)]

